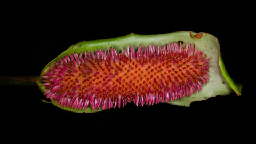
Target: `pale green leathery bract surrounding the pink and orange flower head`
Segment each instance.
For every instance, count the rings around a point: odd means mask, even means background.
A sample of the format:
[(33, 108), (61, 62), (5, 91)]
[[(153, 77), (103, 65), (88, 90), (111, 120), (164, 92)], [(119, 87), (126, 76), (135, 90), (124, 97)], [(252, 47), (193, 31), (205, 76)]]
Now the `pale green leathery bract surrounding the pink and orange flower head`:
[[(149, 46), (149, 44), (153, 44), (154, 46), (159, 45), (162, 47), (163, 45), (167, 45), (168, 43), (193, 43), (197, 49), (201, 50), (204, 54), (207, 55), (207, 58), (212, 58), (210, 60), (210, 71), (209, 71), (209, 81), (208, 84), (202, 84), (202, 91), (192, 94), (189, 97), (185, 97), (179, 100), (170, 101), (169, 103), (172, 105), (186, 106), (188, 107), (193, 101), (202, 101), (206, 100), (210, 97), (215, 97), (216, 95), (229, 95), (230, 93), (236, 92), (237, 95), (241, 95), (242, 85), (238, 84), (231, 79), (227, 70), (225, 69), (221, 54), (220, 54), (220, 44), (216, 37), (207, 33), (194, 33), (190, 31), (177, 31), (169, 34), (159, 34), (159, 35), (138, 35), (131, 33), (126, 36), (110, 38), (110, 39), (100, 39), (94, 41), (84, 41), (70, 46), (66, 51), (62, 52), (57, 58), (52, 60), (45, 68), (42, 70), (39, 79), (33, 77), (33, 81), (36, 81), (39, 89), (45, 93), (45, 86), (42, 86), (44, 75), (44, 71), (49, 69), (49, 66), (53, 66), (55, 62), (59, 61), (62, 57), (65, 57), (66, 54), (80, 53), (84, 54), (86, 50), (95, 52), (95, 50), (99, 49), (108, 49), (110, 47), (114, 47), (116, 51), (121, 52), (123, 48), (127, 48), (127, 46), (134, 45), (135, 49), (141, 44), (141, 46)], [(10, 80), (10, 79), (9, 79)], [(15, 81), (15, 79), (12, 79)], [(0, 85), (2, 82), (0, 82)], [(85, 110), (73, 109), (62, 107), (58, 105), (57, 102), (52, 101), (53, 105), (68, 111), (72, 111), (75, 113), (94, 113), (101, 111), (103, 109), (99, 108), (99, 110), (92, 110), (89, 106)]]

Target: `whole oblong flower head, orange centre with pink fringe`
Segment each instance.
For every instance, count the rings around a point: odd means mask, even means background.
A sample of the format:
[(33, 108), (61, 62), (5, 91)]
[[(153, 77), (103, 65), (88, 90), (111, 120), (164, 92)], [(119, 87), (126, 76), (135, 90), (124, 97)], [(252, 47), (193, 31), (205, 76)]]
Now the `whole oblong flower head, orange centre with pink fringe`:
[[(211, 58), (210, 58), (211, 59)], [(169, 102), (201, 91), (209, 80), (210, 59), (193, 44), (183, 47), (134, 46), (74, 53), (45, 71), (46, 98), (77, 109), (121, 107), (133, 101), (137, 106)]]

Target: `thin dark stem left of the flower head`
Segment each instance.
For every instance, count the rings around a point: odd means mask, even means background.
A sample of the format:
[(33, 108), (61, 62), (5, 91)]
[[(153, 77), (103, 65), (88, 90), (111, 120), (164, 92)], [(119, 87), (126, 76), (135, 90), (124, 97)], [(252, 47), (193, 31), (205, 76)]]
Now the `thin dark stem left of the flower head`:
[(0, 76), (0, 85), (36, 86), (39, 76)]

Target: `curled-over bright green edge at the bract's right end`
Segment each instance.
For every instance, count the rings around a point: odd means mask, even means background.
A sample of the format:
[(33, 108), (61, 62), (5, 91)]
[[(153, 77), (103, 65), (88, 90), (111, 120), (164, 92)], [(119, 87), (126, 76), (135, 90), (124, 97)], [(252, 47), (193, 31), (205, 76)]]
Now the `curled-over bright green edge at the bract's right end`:
[(230, 85), (230, 87), (236, 92), (236, 94), (238, 96), (241, 95), (242, 89), (243, 89), (243, 85), (242, 84), (238, 84), (236, 83), (228, 74), (228, 71), (225, 68), (223, 59), (221, 57), (221, 54), (219, 54), (219, 65), (220, 65), (220, 69), (222, 72), (222, 75), (225, 77), (226, 81), (228, 82), (228, 84)]

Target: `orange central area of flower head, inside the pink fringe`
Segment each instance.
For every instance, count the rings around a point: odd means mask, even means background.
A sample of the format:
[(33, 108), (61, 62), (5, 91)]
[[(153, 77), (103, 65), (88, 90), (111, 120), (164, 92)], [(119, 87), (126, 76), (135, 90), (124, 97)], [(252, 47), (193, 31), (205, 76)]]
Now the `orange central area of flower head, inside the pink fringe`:
[[(191, 56), (186, 56), (183, 59), (177, 55), (162, 55), (157, 59), (135, 59), (122, 57), (118, 62), (111, 62), (109, 59), (88, 61), (81, 63), (76, 67), (72, 62), (67, 66), (73, 66), (75, 70), (67, 70), (63, 82), (67, 85), (57, 93), (62, 95), (68, 92), (74, 86), (81, 84), (78, 89), (72, 90), (71, 93), (78, 91), (78, 97), (83, 98), (85, 93), (94, 93), (95, 98), (117, 99), (119, 95), (122, 98), (133, 100), (135, 95), (148, 94), (151, 90), (152, 94), (162, 93), (163, 84), (166, 87), (173, 87), (173, 84), (180, 87), (180, 84), (187, 85), (188, 80), (197, 83), (201, 80), (198, 77), (205, 75), (203, 71), (199, 71), (203, 65), (199, 59), (196, 60)], [(193, 56), (197, 57), (197, 56)], [(205, 60), (204, 56), (204, 60)], [(194, 60), (193, 65), (190, 65)], [(203, 60), (203, 61), (204, 61)], [(174, 63), (175, 62), (175, 63)], [(196, 65), (196, 66), (195, 66)], [(87, 73), (82, 71), (89, 70)], [(72, 75), (70, 75), (72, 73)], [(90, 91), (88, 89), (92, 88)]]

